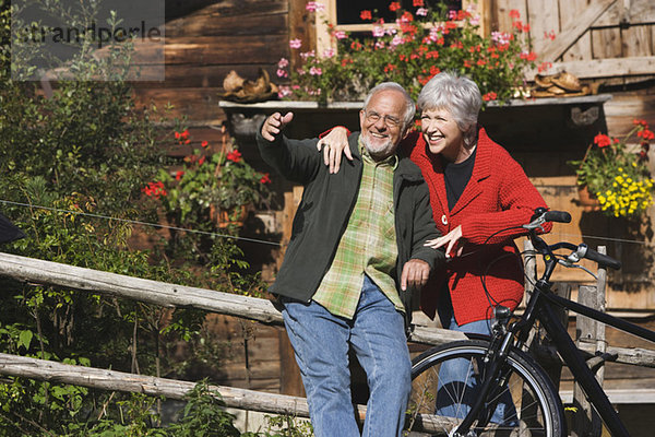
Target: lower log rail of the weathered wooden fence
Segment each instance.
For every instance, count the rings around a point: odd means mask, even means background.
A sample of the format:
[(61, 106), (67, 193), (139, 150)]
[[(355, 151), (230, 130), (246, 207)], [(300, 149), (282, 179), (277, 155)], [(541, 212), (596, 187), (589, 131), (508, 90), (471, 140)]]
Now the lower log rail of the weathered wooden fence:
[[(143, 393), (169, 399), (183, 399), (184, 394), (195, 386), (194, 382), (189, 381), (72, 366), (3, 353), (0, 353), (0, 374), (52, 383)], [(229, 408), (309, 417), (307, 400), (303, 398), (224, 386), (210, 386), (209, 388), (212, 391), (217, 391), (225, 405)], [(360, 418), (366, 416), (365, 405), (358, 405), (357, 410)], [(419, 415), (415, 430), (434, 433), (444, 429), (448, 424), (449, 421), (441, 420), (438, 416)]]

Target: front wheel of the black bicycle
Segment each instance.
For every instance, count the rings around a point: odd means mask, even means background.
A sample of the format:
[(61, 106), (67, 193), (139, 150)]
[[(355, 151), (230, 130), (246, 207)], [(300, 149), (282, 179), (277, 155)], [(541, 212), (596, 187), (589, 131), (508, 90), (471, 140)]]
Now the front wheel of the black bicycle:
[[(428, 429), (432, 429), (427, 435), (452, 435), (452, 430), (458, 426), (467, 412), (467, 406), (462, 402), (462, 399), (467, 391), (467, 395), (475, 397), (475, 392), (472, 392), (475, 387), (472, 387), (469, 381), (464, 383), (460, 383), (460, 381), (449, 385), (458, 385), (460, 387), (455, 390), (453, 390), (453, 387), (445, 389), (439, 385), (440, 370), (446, 368), (444, 364), (446, 366), (457, 364), (461, 366), (463, 362), (454, 362), (454, 359), (464, 358), (467, 361), (468, 371), (473, 371), (474, 375), (481, 371), (484, 375), (481, 358), (485, 356), (488, 346), (489, 342), (484, 340), (457, 341), (431, 347), (412, 361), (408, 429), (412, 429), (416, 421), (420, 420), (424, 429), (426, 429), (426, 426)], [(481, 427), (474, 424), (476, 435), (565, 437), (567, 427), (562, 404), (555, 386), (544, 370), (529, 355), (515, 349), (510, 351), (508, 366), (510, 369), (509, 383), (504, 394), (497, 393), (499, 397), (497, 399), (505, 401), (504, 403), (499, 402), (503, 403), (501, 408), (505, 409), (504, 416), (499, 420), (496, 414), (500, 409), (495, 410), (496, 423), (489, 423)], [(437, 393), (438, 390), (440, 390), (439, 393)], [(443, 404), (444, 399), (450, 402), (446, 409), (463, 413), (444, 417), (441, 413), (442, 410), (437, 411), (438, 403)], [(513, 408), (509, 405), (510, 403)], [(420, 413), (420, 415), (417, 413)], [(439, 413), (439, 415), (436, 413)], [(412, 433), (410, 435), (421, 434)]]

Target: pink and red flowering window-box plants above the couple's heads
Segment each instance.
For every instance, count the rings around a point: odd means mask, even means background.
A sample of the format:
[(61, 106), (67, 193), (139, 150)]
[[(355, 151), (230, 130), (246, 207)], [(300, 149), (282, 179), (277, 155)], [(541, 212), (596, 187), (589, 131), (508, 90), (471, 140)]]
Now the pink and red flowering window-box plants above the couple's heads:
[[(318, 7), (309, 2), (308, 9)], [(485, 101), (507, 101), (522, 96), (523, 70), (534, 67), (536, 55), (528, 51), (528, 25), (512, 10), (512, 33), (493, 32), (481, 36), (479, 16), (468, 10), (436, 9), (415, 0), (414, 12), (391, 2), (395, 23), (376, 20), (361, 11), (364, 21), (373, 23), (372, 37), (364, 39), (342, 31), (331, 32), (336, 49), (323, 54), (300, 52), (302, 62), (289, 71), (289, 61), (278, 62), (277, 75), (289, 78), (279, 97), (319, 102), (359, 101), (368, 90), (383, 81), (402, 84), (414, 97), (434, 74), (455, 70), (473, 79)], [(300, 49), (302, 42), (289, 46)]]

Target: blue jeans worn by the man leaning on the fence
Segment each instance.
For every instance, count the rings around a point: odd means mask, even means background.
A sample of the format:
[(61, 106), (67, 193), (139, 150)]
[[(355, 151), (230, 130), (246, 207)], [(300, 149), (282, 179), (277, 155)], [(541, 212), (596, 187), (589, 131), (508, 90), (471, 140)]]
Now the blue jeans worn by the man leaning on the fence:
[(348, 347), (367, 375), (369, 400), (362, 436), (401, 436), (412, 388), (404, 317), (365, 276), (353, 320), (313, 300), (283, 299), (284, 324), (294, 346), (317, 437), (359, 436), (350, 397)]

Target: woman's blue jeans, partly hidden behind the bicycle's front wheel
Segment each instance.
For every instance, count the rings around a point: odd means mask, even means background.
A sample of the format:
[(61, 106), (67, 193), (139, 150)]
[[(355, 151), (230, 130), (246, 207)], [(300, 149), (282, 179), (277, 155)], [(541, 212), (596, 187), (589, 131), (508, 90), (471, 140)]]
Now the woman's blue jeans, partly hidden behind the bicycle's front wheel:
[[(443, 296), (443, 297), (442, 297)], [(450, 292), (441, 293), (437, 308), (441, 324), (453, 331), (491, 335), (493, 319), (477, 320), (471, 323), (457, 324)], [(437, 403), (434, 414), (445, 417), (464, 418), (476, 398), (476, 386), (479, 383), (473, 376), (471, 363), (464, 358), (451, 359), (441, 365), (437, 385)], [(467, 386), (464, 391), (464, 386)], [(465, 393), (458, 405), (453, 404), (454, 393)], [(461, 398), (461, 397), (460, 397)], [(491, 416), (491, 423), (516, 426), (516, 410), (511, 394), (501, 394), (498, 406)]]

